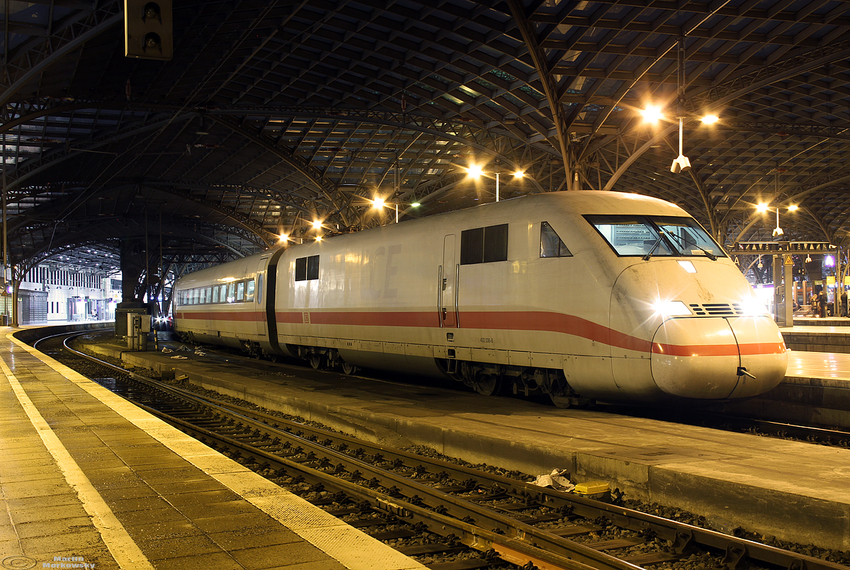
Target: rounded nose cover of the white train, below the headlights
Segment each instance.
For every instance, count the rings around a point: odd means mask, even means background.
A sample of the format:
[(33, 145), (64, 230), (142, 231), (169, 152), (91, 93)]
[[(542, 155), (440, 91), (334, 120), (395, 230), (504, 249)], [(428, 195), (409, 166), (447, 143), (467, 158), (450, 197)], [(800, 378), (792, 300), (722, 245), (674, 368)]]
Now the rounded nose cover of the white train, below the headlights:
[(776, 387), (788, 356), (766, 315), (668, 319), (655, 331), (652, 376), (682, 398), (749, 398)]

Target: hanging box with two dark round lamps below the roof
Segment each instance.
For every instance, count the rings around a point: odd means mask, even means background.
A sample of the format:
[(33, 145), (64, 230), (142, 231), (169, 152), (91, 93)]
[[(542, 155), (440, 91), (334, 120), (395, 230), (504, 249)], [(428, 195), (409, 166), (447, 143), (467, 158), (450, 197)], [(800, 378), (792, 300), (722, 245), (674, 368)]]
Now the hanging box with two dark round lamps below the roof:
[(124, 0), (124, 54), (168, 60), (172, 53), (171, 0)]

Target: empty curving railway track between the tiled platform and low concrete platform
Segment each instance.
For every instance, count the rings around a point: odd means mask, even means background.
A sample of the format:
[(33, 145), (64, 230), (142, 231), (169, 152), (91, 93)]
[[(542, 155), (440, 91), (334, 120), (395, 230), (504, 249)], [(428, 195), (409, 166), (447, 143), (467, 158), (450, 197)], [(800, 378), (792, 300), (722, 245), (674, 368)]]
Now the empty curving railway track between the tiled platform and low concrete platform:
[[(72, 350), (68, 348), (68, 350)], [(847, 567), (487, 471), (365, 443), (226, 404), (72, 351), (110, 372), (94, 380), (252, 466), (434, 570), (637, 568), (710, 552), (712, 566)], [(617, 538), (610, 528), (619, 528)], [(441, 538), (433, 538), (433, 535)], [(500, 560), (501, 559), (501, 560)], [(503, 565), (501, 567), (504, 567)]]

